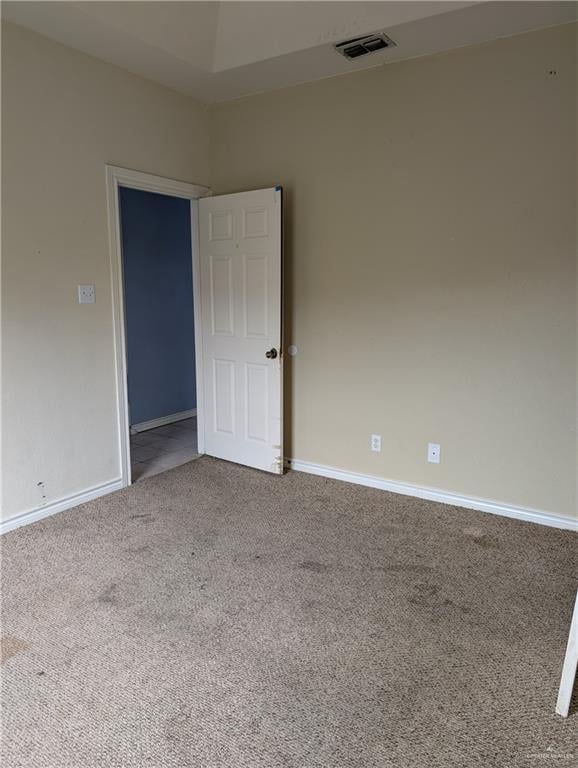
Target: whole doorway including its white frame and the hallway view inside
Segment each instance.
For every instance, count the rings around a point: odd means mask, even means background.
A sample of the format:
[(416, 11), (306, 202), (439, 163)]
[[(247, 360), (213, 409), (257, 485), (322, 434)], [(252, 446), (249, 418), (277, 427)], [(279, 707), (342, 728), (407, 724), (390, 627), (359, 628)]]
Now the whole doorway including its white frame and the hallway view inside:
[(123, 485), (204, 452), (198, 199), (207, 187), (107, 166)]

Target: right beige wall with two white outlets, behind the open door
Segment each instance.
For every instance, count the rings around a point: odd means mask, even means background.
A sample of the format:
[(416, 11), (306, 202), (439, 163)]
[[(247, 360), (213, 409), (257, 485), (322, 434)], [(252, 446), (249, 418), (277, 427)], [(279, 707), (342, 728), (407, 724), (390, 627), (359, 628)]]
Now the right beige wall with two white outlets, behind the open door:
[(288, 455), (576, 513), (575, 101), (566, 26), (211, 109), (286, 191)]

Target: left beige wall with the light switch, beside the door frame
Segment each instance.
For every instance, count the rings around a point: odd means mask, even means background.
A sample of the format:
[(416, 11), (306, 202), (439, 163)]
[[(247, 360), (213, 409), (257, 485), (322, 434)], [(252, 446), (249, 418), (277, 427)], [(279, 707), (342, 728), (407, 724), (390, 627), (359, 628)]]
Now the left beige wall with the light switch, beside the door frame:
[(6, 24), (2, 163), (7, 519), (119, 477), (104, 166), (206, 184), (207, 109)]

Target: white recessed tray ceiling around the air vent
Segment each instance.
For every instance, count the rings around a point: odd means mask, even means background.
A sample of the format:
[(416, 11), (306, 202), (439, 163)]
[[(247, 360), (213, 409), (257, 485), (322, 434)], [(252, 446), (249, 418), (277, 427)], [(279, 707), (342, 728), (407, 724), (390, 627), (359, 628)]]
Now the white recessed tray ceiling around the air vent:
[[(577, 18), (574, 2), (3, 2), (2, 18), (195, 98), (224, 101)], [(355, 62), (333, 44), (386, 32)]]

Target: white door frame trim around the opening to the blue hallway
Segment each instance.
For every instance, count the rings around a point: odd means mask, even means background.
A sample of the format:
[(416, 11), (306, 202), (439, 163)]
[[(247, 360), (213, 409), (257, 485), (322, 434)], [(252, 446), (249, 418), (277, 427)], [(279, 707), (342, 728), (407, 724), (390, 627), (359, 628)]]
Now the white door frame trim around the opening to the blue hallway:
[(211, 193), (209, 187), (188, 184), (162, 176), (106, 166), (106, 197), (108, 205), (108, 234), (110, 247), (110, 274), (112, 283), (112, 315), (114, 328), (114, 355), (116, 369), (116, 400), (118, 418), (118, 447), (120, 475), (123, 488), (131, 484), (130, 426), (128, 417), (128, 387), (126, 362), (126, 318), (122, 268), (122, 238), (120, 231), (119, 187), (158, 192), (180, 197), (191, 205), (191, 251), (193, 259), (193, 317), (195, 322), (195, 369), (197, 377), (197, 439), (198, 453), (205, 452), (203, 408), (203, 360), (201, 347), (201, 268), (199, 261), (199, 227), (197, 200)]

